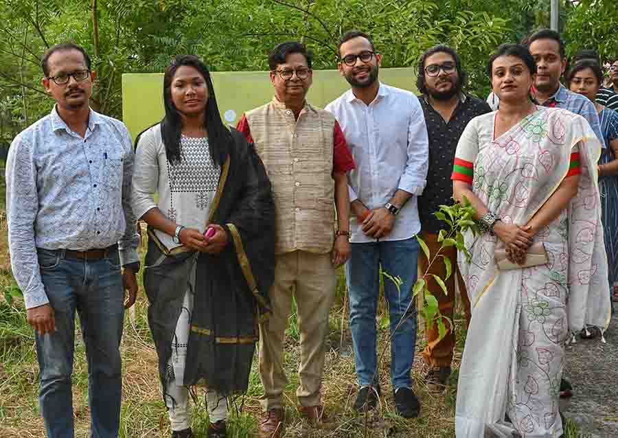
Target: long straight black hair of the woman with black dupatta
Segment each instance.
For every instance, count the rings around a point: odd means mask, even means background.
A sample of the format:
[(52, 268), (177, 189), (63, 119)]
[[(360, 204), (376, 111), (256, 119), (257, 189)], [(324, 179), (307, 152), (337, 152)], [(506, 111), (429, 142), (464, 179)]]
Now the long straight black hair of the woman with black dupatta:
[(179, 67), (186, 65), (196, 69), (203, 77), (208, 87), (208, 102), (206, 104), (204, 126), (208, 132), (208, 148), (214, 163), (222, 165), (227, 159), (232, 137), (229, 130), (223, 124), (217, 100), (212, 87), (210, 72), (206, 65), (193, 55), (179, 55), (172, 60), (172, 63), (165, 69), (163, 76), (163, 104), (165, 106), (165, 117), (161, 120), (161, 139), (165, 145), (165, 155), (170, 163), (181, 161), (181, 132), (182, 119), (181, 113), (172, 102), (172, 81)]

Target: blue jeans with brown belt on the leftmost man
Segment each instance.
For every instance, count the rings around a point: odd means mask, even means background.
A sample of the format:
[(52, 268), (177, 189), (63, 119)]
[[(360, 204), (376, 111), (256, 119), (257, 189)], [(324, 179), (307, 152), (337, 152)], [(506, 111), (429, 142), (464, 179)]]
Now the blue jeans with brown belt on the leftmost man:
[(47, 437), (73, 437), (71, 373), (77, 310), (88, 360), (91, 437), (115, 438), (120, 422), (119, 346), (124, 322), (118, 252), (95, 261), (67, 259), (64, 250), (37, 252), (41, 279), (56, 319), (55, 332), (36, 333), (41, 367), (39, 402)]

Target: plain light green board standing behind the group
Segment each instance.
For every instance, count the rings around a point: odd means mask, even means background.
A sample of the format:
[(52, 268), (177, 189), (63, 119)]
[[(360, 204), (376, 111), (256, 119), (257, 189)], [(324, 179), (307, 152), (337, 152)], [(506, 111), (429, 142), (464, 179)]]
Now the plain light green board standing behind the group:
[[(245, 111), (261, 106), (273, 98), (273, 84), (268, 71), (222, 71), (212, 74), (221, 117), (236, 126)], [(416, 73), (411, 68), (380, 69), (380, 80), (416, 91)], [(336, 70), (315, 70), (307, 100), (323, 108), (350, 89)], [(133, 139), (163, 117), (163, 73), (128, 73), (122, 75), (122, 115)]]

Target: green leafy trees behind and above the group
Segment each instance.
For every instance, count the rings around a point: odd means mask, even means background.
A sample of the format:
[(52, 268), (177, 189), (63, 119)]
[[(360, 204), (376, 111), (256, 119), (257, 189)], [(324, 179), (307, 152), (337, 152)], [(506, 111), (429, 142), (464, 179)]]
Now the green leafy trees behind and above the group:
[[(618, 55), (614, 0), (562, 0), (569, 52), (597, 48)], [(5, 0), (0, 3), (0, 148), (49, 111), (39, 58), (50, 45), (75, 41), (99, 73), (93, 107), (120, 117), (122, 73), (163, 71), (174, 54), (194, 53), (214, 71), (264, 70), (280, 41), (303, 40), (316, 69), (336, 65), (346, 30), (371, 34), (384, 67), (415, 65), (436, 43), (456, 47), (468, 89), (488, 92), (485, 60), (499, 43), (549, 25), (544, 0)], [(2, 157), (0, 157), (1, 159)]]

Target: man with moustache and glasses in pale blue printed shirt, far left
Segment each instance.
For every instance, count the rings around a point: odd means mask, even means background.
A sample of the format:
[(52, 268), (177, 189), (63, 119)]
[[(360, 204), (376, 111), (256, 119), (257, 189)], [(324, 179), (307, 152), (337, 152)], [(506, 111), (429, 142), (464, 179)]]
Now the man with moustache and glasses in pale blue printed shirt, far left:
[(9, 150), (11, 265), (35, 330), (47, 436), (74, 435), (77, 311), (89, 366), (91, 436), (112, 438), (119, 429), (124, 308), (135, 303), (139, 270), (130, 207), (133, 147), (122, 122), (89, 107), (96, 73), (82, 47), (55, 45), (41, 65), (43, 87), (56, 105)]

